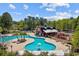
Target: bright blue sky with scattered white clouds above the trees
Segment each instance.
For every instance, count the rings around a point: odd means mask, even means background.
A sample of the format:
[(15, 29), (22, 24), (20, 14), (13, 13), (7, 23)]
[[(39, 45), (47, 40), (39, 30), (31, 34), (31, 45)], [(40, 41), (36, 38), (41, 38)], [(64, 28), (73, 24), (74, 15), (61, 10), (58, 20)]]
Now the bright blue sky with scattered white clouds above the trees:
[(14, 21), (27, 16), (57, 20), (79, 16), (79, 3), (0, 3), (0, 15), (11, 14)]

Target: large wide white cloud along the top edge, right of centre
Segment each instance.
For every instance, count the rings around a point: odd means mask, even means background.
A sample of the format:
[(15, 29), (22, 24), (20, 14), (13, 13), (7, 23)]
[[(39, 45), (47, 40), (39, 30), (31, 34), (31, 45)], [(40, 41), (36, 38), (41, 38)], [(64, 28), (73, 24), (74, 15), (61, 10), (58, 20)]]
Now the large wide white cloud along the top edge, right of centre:
[(69, 8), (70, 5), (68, 3), (43, 3), (40, 8), (45, 8), (47, 11), (56, 11), (57, 7), (67, 7)]

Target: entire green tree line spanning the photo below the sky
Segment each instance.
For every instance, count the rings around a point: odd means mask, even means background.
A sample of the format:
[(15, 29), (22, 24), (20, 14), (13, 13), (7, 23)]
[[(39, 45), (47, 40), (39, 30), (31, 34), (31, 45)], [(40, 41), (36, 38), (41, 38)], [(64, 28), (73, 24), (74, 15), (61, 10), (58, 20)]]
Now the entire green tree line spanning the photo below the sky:
[(60, 31), (79, 30), (79, 16), (77, 18), (59, 19), (49, 21), (42, 17), (28, 16), (18, 22), (13, 21), (11, 15), (8, 12), (3, 13), (0, 16), (0, 32), (7, 32), (8, 30), (34, 30), (37, 26), (51, 26)]

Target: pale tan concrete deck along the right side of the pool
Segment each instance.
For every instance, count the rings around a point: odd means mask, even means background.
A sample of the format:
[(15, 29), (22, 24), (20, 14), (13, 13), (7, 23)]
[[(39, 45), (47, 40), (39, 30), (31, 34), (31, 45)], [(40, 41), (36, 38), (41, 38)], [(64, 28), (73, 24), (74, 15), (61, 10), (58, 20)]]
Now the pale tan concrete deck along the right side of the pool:
[(46, 38), (45, 41), (56, 45), (56, 49), (54, 51), (63, 51), (64, 53), (69, 53), (69, 47), (63, 44), (62, 42), (56, 42), (51, 38)]

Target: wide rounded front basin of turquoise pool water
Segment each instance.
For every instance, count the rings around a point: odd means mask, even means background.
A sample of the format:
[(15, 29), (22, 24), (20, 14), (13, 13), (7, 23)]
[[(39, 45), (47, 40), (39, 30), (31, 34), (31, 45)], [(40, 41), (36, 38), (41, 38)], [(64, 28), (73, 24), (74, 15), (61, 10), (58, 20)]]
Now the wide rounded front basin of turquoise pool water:
[(34, 42), (25, 46), (26, 50), (30, 51), (49, 51), (55, 50), (54, 44), (47, 43), (44, 38), (34, 38)]

